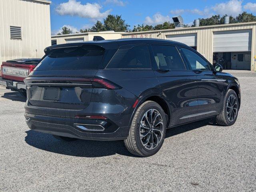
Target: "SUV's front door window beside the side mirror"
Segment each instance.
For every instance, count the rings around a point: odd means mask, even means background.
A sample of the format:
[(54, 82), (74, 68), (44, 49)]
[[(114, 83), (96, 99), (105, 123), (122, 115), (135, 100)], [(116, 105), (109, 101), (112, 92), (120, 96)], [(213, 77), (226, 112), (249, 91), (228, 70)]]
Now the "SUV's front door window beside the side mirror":
[(210, 66), (208, 65), (208, 62), (206, 62), (206, 60), (204, 60), (200, 55), (186, 48), (181, 47), (181, 50), (186, 56), (192, 70), (199, 69), (210, 71)]

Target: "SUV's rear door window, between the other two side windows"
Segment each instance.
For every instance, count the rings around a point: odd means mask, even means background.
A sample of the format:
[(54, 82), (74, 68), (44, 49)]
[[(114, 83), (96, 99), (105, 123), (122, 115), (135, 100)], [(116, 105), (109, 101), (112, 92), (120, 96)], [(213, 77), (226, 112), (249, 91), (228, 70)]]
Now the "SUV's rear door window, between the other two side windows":
[(152, 48), (158, 69), (186, 70), (175, 46), (152, 45)]

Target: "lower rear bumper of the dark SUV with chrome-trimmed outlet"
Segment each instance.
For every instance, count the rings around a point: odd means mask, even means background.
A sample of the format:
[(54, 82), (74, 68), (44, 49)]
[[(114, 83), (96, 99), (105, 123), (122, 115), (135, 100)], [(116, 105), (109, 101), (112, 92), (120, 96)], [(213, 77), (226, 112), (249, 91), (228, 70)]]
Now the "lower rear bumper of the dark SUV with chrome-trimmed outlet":
[[(24, 114), (28, 127), (32, 130), (85, 140), (124, 140), (128, 136), (129, 127), (118, 127), (110, 120), (80, 120), (76, 118)], [(79, 128), (78, 125), (84, 125)], [(87, 125), (96, 125), (102, 130), (86, 130)]]

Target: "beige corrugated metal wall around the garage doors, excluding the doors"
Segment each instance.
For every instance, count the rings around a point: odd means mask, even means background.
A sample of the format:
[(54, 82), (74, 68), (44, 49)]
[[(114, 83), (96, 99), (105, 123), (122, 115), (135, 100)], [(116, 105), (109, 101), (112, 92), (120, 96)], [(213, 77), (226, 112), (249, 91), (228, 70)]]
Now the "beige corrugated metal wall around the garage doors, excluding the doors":
[(256, 56), (256, 22), (243, 23), (243, 24), (225, 24), (218, 26), (205, 26), (194, 28), (178, 28), (169, 30), (157, 30), (148, 32), (132, 32), (122, 34), (122, 38), (159, 38), (166, 39), (167, 35), (175, 34), (188, 34), (197, 33), (197, 51), (205, 56), (210, 62), (213, 58), (213, 32), (215, 31), (227, 31), (227, 30), (252, 30), (252, 58), (251, 58), (251, 70), (256, 71), (256, 62), (254, 56)]

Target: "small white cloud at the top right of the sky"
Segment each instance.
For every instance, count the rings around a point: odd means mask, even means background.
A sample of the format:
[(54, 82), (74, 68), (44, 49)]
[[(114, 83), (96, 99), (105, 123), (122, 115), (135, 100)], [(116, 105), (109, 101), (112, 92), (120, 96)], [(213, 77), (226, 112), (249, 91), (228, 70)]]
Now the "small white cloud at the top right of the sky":
[(212, 7), (217, 14), (237, 16), (242, 12), (242, 0), (230, 0)]

